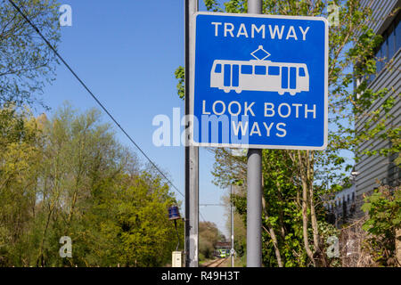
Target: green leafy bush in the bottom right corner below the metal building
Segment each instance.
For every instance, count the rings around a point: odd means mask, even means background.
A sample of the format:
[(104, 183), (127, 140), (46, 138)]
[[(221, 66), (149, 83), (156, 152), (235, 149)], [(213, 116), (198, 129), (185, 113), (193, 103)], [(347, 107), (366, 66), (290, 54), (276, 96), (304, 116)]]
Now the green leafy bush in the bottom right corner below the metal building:
[(379, 265), (396, 265), (396, 231), (401, 228), (401, 188), (381, 187), (364, 198), (369, 216), (362, 228), (370, 232), (368, 248)]

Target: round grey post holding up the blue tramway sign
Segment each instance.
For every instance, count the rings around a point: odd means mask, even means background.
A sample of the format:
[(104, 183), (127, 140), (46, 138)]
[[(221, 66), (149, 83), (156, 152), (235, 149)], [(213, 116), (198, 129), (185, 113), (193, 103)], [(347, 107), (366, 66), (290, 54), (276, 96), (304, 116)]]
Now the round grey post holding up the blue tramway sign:
[[(262, 13), (262, 0), (248, 0), (248, 12)], [(262, 150), (248, 150), (247, 266), (262, 265)]]

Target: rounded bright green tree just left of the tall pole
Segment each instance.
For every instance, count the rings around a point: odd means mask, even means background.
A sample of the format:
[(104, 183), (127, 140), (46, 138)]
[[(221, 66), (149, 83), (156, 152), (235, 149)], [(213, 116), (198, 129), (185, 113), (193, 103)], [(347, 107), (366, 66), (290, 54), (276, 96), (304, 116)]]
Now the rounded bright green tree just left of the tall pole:
[[(177, 238), (174, 225), (167, 218), (167, 208), (175, 202), (167, 185), (144, 173), (123, 175), (120, 185), (115, 184), (111, 191), (109, 187), (99, 191), (94, 221), (89, 223), (90, 231), (86, 231), (97, 241), (93, 253), (99, 254), (99, 265), (168, 264)], [(178, 223), (178, 230), (183, 232), (183, 223)], [(180, 243), (183, 244), (182, 240)]]

